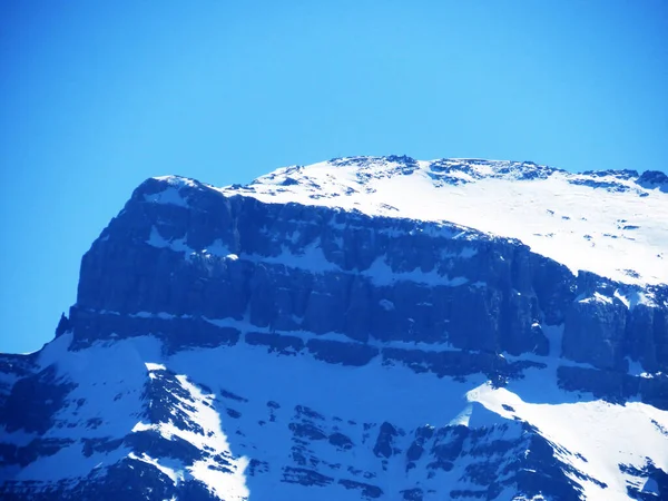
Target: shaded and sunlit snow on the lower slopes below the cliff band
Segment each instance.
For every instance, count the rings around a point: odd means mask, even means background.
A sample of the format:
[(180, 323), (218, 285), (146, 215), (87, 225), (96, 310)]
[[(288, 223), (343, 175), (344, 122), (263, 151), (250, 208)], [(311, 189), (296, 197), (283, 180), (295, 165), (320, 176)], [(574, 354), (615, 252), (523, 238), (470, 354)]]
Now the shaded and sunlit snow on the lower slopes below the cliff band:
[[(216, 323), (234, 325), (243, 333), (258, 331), (233, 320)], [(562, 326), (542, 328), (550, 341), (561, 336)], [(304, 340), (316, 337), (312, 333), (289, 334)], [(330, 338), (334, 334), (317, 337)], [(297, 406), (308, 406), (322, 414), (324, 421), (316, 425), (331, 430), (334, 423), (338, 432), (355, 443), (355, 448), (344, 451), (333, 448), (326, 440), (311, 441), (310, 453), (321, 461), (318, 471), (335, 479), (352, 478), (333, 466), (343, 462), (375, 475), (369, 483), (377, 484), (387, 493), (410, 489), (415, 482), (424, 482), (425, 489), (430, 482), (432, 487), (465, 488), (468, 482), (461, 478), (468, 463), (465, 458), (460, 458), (451, 472), (441, 472), (431, 481), (421, 477), (425, 464), (419, 463), (415, 470), (406, 473), (403, 455), (391, 458), (384, 471), (372, 449), (379, 426), (385, 421), (406, 432), (396, 438), (396, 446), (403, 451), (413, 440), (412, 430), (421, 425), (485, 428), (497, 430), (489, 439), (494, 440), (520, 438), (522, 433), (519, 424), (508, 429), (497, 429), (495, 424), (515, 423), (515, 419), (527, 421), (563, 448), (557, 451), (560, 460), (610, 485), (601, 490), (593, 482), (574, 479), (582, 483), (588, 499), (625, 499), (629, 479), (619, 471), (618, 463), (642, 468), (648, 456), (658, 468), (668, 469), (668, 456), (660, 446), (666, 439), (659, 428), (668, 428), (668, 413), (639, 402), (612, 405), (587, 394), (578, 396), (563, 392), (557, 385), (556, 370), (566, 361), (561, 361), (556, 351), (550, 356), (534, 357), (546, 363), (547, 369), (527, 370), (525, 379), (495, 389), (482, 374), (461, 380), (438, 377), (432, 373), (416, 374), (401, 363), (383, 364), (381, 357), (364, 366), (343, 367), (320, 362), (305, 353), (293, 356), (269, 354), (266, 346), (243, 342), (166, 355), (160, 342), (151, 336), (99, 341), (78, 352), (68, 351), (70, 341), (71, 334), (56, 340), (42, 352), (39, 363), (45, 366), (58, 361), (59, 372), (77, 383), (68, 399), (72, 402), (84, 399), (84, 405), (63, 407), (57, 416), (62, 425), (53, 426), (45, 435), (75, 442), (51, 456), (32, 462), (17, 480), (71, 479), (128, 458), (150, 464), (174, 483), (198, 479), (212, 493), (224, 499), (242, 500), (249, 493), (259, 498), (279, 493), (283, 499), (294, 500), (313, 499), (313, 495), (323, 500), (358, 499), (358, 491), (347, 491), (336, 483), (312, 491), (282, 482), (283, 465), (291, 464), (287, 454), (294, 445), (294, 435), (288, 424), (298, 422), (295, 421)], [(411, 350), (449, 348), (424, 343), (375, 344)], [(510, 361), (520, 358), (504, 356)], [(529, 360), (529, 356), (524, 358)], [(147, 423), (138, 416), (146, 381), (167, 373), (175, 374), (178, 384), (178, 389), (170, 390), (170, 397), (177, 402), (174, 409), (200, 429), (180, 429), (171, 421)], [(239, 395), (242, 400), (225, 399), (226, 394)], [(279, 407), (272, 411), (275, 422), (268, 419), (267, 402), (279, 402)], [(230, 418), (226, 409), (233, 409), (239, 416)], [(100, 420), (95, 429), (67, 425), (95, 418)], [(185, 464), (125, 446), (108, 453), (96, 452), (90, 458), (81, 453), (79, 440), (82, 438), (115, 439), (148, 430), (166, 439), (179, 436), (206, 454)], [(237, 433), (239, 431), (243, 434)], [(213, 458), (217, 454), (229, 462), (227, 471), (213, 468), (216, 466)], [(271, 464), (269, 470), (262, 477), (249, 478), (248, 456), (266, 461)], [(392, 483), (399, 479), (402, 479), (401, 484)]]

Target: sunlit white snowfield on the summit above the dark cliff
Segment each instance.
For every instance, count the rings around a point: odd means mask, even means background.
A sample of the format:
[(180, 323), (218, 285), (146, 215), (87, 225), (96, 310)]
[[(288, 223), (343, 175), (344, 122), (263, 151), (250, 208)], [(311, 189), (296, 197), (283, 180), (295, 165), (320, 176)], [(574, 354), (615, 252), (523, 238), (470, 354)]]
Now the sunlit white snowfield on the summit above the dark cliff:
[[(494, 160), (418, 161), (410, 173), (384, 158), (344, 160), (277, 169), (244, 189), (218, 190), (267, 203), (451, 222), (518, 238), (573, 273), (587, 269), (628, 284), (668, 283), (668, 194), (632, 179), (561, 170), (521, 179), (515, 164)], [(439, 181), (438, 165), (462, 165), (448, 175), (466, 183)], [(503, 169), (510, 174), (499, 174)], [(284, 185), (288, 177), (296, 183)], [(625, 190), (573, 184), (581, 180), (615, 183)]]

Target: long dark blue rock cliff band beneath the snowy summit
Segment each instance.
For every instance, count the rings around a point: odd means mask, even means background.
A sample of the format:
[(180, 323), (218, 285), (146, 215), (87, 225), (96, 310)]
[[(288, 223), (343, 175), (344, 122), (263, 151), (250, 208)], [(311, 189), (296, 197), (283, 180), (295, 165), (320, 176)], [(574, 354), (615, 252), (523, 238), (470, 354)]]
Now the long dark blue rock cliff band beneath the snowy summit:
[[(489, 354), (553, 350), (603, 370), (630, 360), (657, 372), (668, 369), (666, 297), (666, 287), (576, 277), (517, 240), (455, 225), (149, 179), (84, 257), (70, 323), (81, 345), (145, 332), (176, 346), (236, 343), (228, 320), (266, 330), (252, 343), (335, 333)], [(550, 346), (543, 328), (560, 324), (562, 346)], [(311, 348), (354, 363), (377, 353), (342, 357), (316, 340)]]

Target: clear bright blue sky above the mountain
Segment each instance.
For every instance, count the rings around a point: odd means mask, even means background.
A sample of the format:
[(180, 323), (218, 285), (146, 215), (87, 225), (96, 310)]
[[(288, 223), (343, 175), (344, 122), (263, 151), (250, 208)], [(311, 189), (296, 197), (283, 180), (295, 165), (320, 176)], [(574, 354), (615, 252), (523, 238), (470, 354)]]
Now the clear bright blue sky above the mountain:
[(668, 2), (0, 4), (0, 351), (39, 348), (145, 178), (336, 156), (668, 167)]

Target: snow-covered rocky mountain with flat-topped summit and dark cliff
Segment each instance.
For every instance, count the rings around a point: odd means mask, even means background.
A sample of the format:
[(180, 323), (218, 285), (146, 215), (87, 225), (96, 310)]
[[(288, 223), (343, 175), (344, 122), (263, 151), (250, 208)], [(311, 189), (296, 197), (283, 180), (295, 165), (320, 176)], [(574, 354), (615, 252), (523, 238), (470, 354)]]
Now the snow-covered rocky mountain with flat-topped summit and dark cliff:
[(659, 171), (148, 179), (0, 356), (0, 497), (668, 499), (667, 249)]

